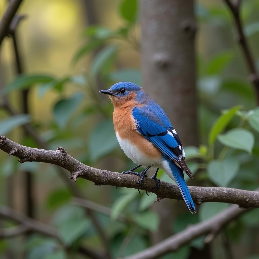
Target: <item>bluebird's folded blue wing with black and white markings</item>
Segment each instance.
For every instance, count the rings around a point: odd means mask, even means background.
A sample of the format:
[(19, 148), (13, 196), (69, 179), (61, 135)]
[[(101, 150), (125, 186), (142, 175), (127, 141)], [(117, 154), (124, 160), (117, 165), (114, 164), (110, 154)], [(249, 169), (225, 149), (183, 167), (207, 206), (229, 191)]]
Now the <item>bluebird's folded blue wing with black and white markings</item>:
[(137, 131), (192, 178), (192, 172), (184, 160), (182, 143), (164, 110), (152, 101), (147, 106), (135, 107), (132, 116)]

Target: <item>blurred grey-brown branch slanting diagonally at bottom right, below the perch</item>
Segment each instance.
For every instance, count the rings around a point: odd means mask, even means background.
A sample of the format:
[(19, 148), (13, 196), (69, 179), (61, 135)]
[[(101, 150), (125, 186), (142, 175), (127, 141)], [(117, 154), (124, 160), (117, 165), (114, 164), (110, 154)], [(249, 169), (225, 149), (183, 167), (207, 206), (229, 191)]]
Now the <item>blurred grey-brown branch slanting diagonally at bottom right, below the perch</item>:
[(214, 217), (191, 225), (183, 231), (155, 244), (154, 246), (144, 249), (134, 255), (124, 257), (124, 259), (160, 258), (160, 256), (176, 251), (191, 240), (204, 234), (208, 234), (205, 238), (205, 242), (210, 242), (228, 222), (239, 217), (248, 210), (249, 209), (239, 208), (237, 205), (232, 205), (226, 210), (216, 214)]

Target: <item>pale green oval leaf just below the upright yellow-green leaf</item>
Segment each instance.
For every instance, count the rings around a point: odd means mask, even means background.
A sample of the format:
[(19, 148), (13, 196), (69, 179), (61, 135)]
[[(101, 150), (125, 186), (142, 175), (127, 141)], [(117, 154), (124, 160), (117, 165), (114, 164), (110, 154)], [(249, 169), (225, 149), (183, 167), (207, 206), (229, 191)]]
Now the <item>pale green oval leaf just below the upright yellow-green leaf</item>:
[(252, 152), (254, 147), (254, 135), (245, 129), (236, 128), (225, 134), (218, 135), (218, 140), (225, 146)]

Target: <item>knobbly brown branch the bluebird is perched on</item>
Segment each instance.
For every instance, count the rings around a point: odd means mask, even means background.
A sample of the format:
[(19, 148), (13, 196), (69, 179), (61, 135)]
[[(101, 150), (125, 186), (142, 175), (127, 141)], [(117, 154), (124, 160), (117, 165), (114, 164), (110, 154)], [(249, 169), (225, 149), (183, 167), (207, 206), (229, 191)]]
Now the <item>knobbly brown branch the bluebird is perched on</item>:
[[(139, 188), (139, 184), (137, 183), (139, 178), (137, 176), (89, 167), (68, 155), (61, 147), (57, 148), (56, 151), (30, 148), (19, 145), (7, 139), (5, 136), (0, 136), (0, 149), (9, 155), (18, 157), (20, 163), (27, 161), (42, 162), (55, 164), (67, 169), (70, 172), (70, 178), (74, 179), (74, 181), (76, 181), (78, 177), (81, 177), (94, 182), (95, 185), (105, 184), (117, 187)], [(141, 189), (149, 191), (154, 186), (155, 181), (151, 178), (146, 178)], [(189, 186), (189, 189), (194, 202), (198, 205), (202, 202), (224, 202), (238, 204), (244, 208), (259, 207), (258, 191), (195, 186)], [(163, 198), (183, 199), (177, 185), (167, 182), (161, 182), (160, 188), (154, 193), (157, 195), (158, 201)]]

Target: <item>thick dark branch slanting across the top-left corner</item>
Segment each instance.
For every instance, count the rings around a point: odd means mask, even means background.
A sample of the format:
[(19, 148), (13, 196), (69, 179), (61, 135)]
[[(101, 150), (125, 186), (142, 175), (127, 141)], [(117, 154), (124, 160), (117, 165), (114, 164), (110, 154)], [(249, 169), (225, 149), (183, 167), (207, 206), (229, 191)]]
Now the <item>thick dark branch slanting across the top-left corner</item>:
[(4, 37), (9, 32), (9, 26), (12, 22), (15, 13), (17, 12), (22, 0), (11, 0), (3, 17), (0, 21), (0, 45), (4, 39)]

